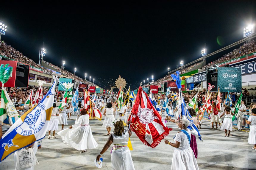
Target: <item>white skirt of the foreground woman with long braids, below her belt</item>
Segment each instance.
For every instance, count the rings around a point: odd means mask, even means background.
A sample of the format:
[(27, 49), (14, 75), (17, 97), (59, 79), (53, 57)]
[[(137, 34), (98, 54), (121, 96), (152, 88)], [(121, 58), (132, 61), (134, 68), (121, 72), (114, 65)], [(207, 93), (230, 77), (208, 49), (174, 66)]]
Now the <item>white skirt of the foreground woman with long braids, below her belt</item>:
[(120, 147), (112, 150), (111, 154), (112, 168), (115, 170), (135, 170), (132, 155), (129, 147)]

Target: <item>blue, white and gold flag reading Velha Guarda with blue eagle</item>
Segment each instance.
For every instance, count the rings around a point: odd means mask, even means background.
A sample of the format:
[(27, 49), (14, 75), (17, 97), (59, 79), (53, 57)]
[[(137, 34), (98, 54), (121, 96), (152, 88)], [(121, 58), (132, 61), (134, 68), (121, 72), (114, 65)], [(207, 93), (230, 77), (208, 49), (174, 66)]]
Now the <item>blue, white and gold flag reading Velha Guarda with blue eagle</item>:
[(0, 161), (45, 137), (51, 118), (55, 85), (56, 79), (43, 99), (18, 118), (3, 135), (0, 140)]

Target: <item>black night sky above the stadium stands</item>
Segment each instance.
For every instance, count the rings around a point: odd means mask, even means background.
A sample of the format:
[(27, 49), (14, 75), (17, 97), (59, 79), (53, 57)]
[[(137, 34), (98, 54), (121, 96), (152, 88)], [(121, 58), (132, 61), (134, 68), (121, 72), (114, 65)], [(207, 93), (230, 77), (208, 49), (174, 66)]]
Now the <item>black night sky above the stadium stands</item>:
[[(60, 65), (110, 89), (119, 75), (133, 89), (243, 38), (255, 23), (256, 1), (2, 1), (0, 20), (8, 26), (1, 39), (38, 62)], [(217, 37), (220, 43), (217, 43)], [(227, 51), (225, 53), (228, 53)], [(225, 54), (217, 54), (207, 62)]]

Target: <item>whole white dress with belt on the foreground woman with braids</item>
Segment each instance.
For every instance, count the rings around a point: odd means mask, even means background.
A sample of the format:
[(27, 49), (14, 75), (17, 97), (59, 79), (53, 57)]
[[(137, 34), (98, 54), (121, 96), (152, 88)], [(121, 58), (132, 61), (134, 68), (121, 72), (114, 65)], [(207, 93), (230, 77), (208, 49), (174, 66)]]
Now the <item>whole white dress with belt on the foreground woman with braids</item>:
[(128, 130), (124, 130), (122, 136), (113, 135), (113, 150), (111, 154), (112, 168), (115, 170), (135, 170), (132, 155), (127, 146), (129, 140)]

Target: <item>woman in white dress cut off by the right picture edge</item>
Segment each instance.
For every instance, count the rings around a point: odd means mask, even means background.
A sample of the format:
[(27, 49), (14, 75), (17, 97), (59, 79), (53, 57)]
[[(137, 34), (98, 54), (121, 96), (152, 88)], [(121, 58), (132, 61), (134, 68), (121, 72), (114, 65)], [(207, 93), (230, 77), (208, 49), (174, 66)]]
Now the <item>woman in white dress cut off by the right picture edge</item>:
[(249, 116), (246, 123), (250, 125), (248, 143), (253, 144), (254, 147), (252, 149), (256, 150), (256, 108), (252, 109), (252, 115)]

